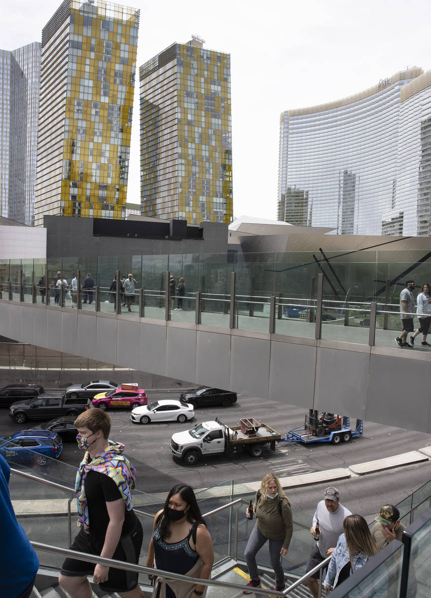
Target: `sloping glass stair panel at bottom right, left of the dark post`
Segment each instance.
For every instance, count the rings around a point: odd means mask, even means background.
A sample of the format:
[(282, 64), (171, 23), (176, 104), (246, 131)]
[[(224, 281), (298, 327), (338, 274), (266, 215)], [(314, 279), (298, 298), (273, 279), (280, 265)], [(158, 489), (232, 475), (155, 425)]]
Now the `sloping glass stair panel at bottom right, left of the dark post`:
[[(401, 586), (403, 556), (404, 545), (394, 540), (335, 588), (331, 596), (333, 598), (357, 598), (358, 596), (396, 598), (399, 596)], [(420, 596), (420, 594), (411, 594), (411, 596)]]

